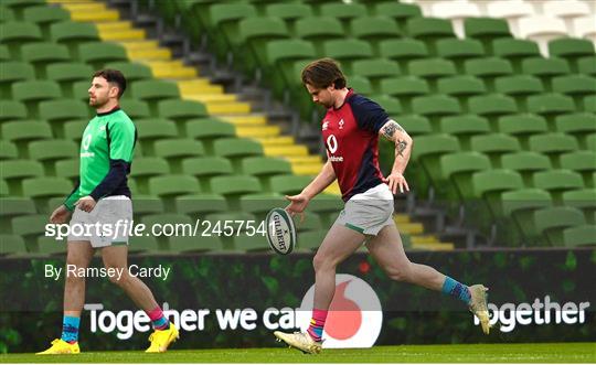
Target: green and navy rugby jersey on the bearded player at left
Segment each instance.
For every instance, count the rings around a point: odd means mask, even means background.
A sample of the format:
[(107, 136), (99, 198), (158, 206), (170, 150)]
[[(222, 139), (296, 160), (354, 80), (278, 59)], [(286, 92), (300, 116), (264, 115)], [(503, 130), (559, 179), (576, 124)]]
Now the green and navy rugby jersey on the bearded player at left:
[(130, 196), (130, 173), (137, 130), (119, 108), (95, 116), (81, 140), (79, 182), (64, 205), (74, 210), (76, 201), (91, 195), (96, 202), (110, 195)]

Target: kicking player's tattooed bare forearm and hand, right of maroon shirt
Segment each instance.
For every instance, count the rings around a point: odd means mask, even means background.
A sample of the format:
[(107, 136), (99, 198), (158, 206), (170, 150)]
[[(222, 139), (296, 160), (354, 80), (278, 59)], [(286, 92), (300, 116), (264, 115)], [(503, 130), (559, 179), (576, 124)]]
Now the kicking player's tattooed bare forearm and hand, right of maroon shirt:
[(381, 127), (379, 133), (395, 143), (393, 169), (391, 170), (391, 174), (385, 179), (385, 182), (394, 194), (397, 193), (397, 189), (400, 189), (401, 193), (409, 191), (409, 186), (404, 178), (404, 171), (412, 154), (412, 137), (407, 135), (402, 126), (392, 119)]

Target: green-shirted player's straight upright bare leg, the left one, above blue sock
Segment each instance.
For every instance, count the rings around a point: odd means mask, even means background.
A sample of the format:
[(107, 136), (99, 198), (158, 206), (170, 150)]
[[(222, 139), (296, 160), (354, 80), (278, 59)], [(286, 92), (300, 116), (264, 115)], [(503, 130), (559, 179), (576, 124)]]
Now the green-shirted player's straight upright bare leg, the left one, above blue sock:
[[(87, 268), (93, 258), (94, 248), (88, 240), (73, 240), (67, 244), (66, 265)], [(66, 267), (68, 268), (68, 267)], [(64, 281), (64, 315), (78, 316), (85, 304), (85, 277), (68, 275)]]

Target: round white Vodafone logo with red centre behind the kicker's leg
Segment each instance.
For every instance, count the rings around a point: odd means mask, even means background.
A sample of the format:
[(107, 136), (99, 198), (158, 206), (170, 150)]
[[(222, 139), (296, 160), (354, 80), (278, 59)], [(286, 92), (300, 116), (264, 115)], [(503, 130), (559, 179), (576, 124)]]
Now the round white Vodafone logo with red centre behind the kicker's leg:
[[(296, 324), (308, 330), (315, 286), (306, 292), (296, 313)], [(381, 333), (383, 311), (374, 290), (364, 280), (336, 275), (336, 294), (324, 323), (324, 348), (372, 347)]]

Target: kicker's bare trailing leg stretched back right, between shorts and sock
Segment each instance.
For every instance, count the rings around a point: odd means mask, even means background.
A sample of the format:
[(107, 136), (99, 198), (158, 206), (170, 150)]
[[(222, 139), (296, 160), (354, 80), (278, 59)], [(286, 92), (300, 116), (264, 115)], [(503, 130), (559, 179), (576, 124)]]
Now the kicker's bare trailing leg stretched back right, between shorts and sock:
[(376, 237), (366, 243), (366, 247), (391, 279), (441, 290), (445, 275), (429, 266), (411, 262), (395, 225), (383, 227)]

